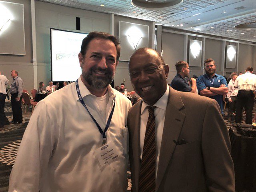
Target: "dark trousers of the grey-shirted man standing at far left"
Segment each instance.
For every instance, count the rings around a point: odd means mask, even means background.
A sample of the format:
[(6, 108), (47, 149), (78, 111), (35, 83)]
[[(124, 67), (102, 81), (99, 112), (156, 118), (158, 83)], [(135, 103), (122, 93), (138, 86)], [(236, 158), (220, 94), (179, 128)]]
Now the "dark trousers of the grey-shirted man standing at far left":
[(21, 109), (22, 96), (20, 97), (19, 101), (16, 101), (15, 99), (17, 96), (18, 96), (18, 93), (14, 93), (11, 96), (13, 122), (22, 122), (22, 109)]

